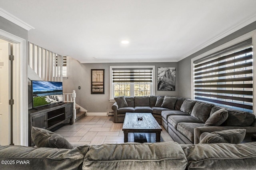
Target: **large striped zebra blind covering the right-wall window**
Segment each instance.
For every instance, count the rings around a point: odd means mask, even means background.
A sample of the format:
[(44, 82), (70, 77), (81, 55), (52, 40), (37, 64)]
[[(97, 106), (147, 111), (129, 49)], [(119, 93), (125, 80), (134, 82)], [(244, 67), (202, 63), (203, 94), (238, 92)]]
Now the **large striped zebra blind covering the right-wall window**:
[(194, 62), (196, 100), (252, 112), (252, 40), (245, 42)]

